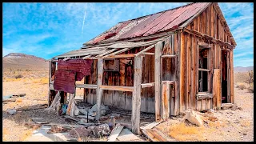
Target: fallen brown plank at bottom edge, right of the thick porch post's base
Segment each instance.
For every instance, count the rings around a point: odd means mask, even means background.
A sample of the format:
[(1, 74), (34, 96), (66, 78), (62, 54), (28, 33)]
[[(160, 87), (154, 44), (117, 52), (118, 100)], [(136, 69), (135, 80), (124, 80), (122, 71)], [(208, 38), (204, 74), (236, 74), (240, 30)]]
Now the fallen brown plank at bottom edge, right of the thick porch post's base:
[(163, 138), (162, 135), (158, 134), (158, 132), (155, 130), (145, 129), (142, 130), (142, 132), (147, 138), (150, 138), (152, 142), (167, 142), (166, 138)]

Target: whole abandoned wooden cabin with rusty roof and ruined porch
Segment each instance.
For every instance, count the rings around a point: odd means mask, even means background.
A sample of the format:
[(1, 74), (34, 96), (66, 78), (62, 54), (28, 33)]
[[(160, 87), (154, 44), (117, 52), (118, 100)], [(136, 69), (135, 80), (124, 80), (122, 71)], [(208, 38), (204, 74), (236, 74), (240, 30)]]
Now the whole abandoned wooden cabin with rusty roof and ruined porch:
[[(234, 103), (236, 42), (216, 2), (190, 3), (119, 22), (50, 62), (49, 104), (76, 88), (84, 102), (131, 110), (139, 133), (140, 112), (166, 120), (188, 109)], [(84, 79), (84, 84), (75, 81)]]

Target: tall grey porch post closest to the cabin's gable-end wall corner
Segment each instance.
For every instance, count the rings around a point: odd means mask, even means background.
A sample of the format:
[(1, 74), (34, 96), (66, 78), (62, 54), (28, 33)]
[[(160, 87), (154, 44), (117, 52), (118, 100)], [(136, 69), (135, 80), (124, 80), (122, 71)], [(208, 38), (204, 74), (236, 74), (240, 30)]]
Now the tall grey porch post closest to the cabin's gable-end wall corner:
[(154, 103), (155, 103), (155, 121), (161, 119), (161, 56), (162, 56), (162, 42), (158, 42), (154, 50)]

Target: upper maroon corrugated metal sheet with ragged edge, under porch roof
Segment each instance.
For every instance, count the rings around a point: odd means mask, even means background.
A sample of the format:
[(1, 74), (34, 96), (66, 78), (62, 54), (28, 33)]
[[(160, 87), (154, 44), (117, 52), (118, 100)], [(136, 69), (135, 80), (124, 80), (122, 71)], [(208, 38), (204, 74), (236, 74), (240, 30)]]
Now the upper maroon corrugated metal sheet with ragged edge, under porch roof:
[(58, 60), (58, 70), (68, 70), (74, 71), (76, 73), (76, 81), (81, 81), (85, 75), (90, 75), (90, 68), (93, 60), (91, 59), (69, 59), (63, 61), (62, 59)]

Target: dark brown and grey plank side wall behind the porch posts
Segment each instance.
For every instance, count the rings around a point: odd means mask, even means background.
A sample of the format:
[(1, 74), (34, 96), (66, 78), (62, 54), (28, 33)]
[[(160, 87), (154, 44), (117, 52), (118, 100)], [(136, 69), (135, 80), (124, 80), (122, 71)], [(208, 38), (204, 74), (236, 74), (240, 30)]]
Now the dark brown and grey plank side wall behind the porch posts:
[[(145, 47), (128, 50), (123, 54), (135, 54)], [(154, 48), (148, 52), (154, 53)], [(133, 86), (134, 85), (134, 58), (118, 58), (119, 71), (104, 71), (102, 85), (106, 86)], [(132, 65), (125, 64), (132, 60)], [(145, 55), (142, 60), (142, 83), (154, 82), (154, 55)], [(86, 77), (86, 84), (97, 84), (97, 60), (93, 62), (92, 73)], [(96, 90), (86, 89), (86, 102), (96, 103)], [(141, 111), (154, 113), (154, 86), (142, 89)], [(106, 106), (118, 109), (132, 109), (132, 92), (103, 90), (102, 102)]]

